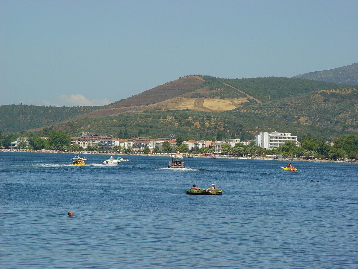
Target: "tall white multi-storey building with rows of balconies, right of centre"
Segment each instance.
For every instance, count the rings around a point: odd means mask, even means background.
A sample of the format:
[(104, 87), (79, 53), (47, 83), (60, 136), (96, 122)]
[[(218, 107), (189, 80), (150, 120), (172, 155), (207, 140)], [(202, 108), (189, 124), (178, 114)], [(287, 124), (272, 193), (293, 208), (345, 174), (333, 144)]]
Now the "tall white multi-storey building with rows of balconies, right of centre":
[(286, 141), (294, 142), (297, 145), (297, 136), (291, 133), (280, 132), (260, 132), (255, 136), (255, 142), (258, 146), (272, 150), (283, 145)]

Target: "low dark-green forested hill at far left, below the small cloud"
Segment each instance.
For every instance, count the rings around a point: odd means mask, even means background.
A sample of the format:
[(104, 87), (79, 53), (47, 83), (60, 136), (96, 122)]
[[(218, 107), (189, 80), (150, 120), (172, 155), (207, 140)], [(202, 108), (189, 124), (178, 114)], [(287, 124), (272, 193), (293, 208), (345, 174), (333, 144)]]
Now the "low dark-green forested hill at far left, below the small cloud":
[(52, 125), (103, 107), (47, 107), (38, 105), (1, 105), (0, 131), (19, 132)]

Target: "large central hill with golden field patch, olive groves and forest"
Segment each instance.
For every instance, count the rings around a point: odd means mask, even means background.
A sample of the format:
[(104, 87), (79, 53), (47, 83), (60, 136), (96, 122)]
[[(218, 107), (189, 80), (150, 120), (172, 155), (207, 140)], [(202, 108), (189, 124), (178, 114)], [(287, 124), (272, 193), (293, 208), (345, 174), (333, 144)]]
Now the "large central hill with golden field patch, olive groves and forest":
[[(40, 107), (41, 112), (32, 120), (32, 126), (56, 123), (58, 130), (71, 135), (87, 131), (117, 136), (121, 130), (128, 136), (168, 137), (180, 132), (192, 138), (203, 138), (214, 137), (222, 130), (228, 137), (252, 138), (257, 131), (277, 130), (299, 135), (310, 133), (328, 139), (357, 133), (357, 103), (357, 89), (324, 81), (286, 77), (222, 79), (196, 75), (182, 77), (105, 107), (75, 110), (71, 115), (77, 117), (72, 119), (70, 114), (46, 119), (43, 110), (48, 107)], [(17, 119), (12, 130), (21, 131), (28, 126), (29, 123), (24, 123), (24, 118), (28, 117), (25, 114)], [(19, 114), (5, 117), (4, 121), (8, 120), (6, 124), (9, 124), (15, 117)]]

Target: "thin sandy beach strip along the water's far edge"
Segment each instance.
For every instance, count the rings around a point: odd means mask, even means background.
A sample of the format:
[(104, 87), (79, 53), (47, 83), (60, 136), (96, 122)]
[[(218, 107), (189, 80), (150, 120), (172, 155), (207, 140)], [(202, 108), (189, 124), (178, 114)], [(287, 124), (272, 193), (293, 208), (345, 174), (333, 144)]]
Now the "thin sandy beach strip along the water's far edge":
[[(139, 154), (139, 153), (130, 153), (130, 154), (124, 154), (124, 153), (113, 153), (111, 151), (54, 151), (54, 150), (4, 150), (1, 149), (0, 152), (23, 152), (23, 153), (53, 153), (53, 154), (96, 154), (96, 155), (127, 155), (127, 156), (146, 156), (146, 157), (171, 157), (173, 153), (161, 153), (161, 154)], [(185, 156), (183, 154), (183, 157), (193, 157), (193, 156)], [(229, 160), (265, 160), (265, 161), (301, 161), (301, 162), (340, 162), (340, 163), (350, 163), (350, 164), (358, 164), (358, 161), (343, 161), (343, 160), (305, 160), (305, 159), (291, 159), (291, 160), (284, 160), (284, 159), (271, 159), (271, 158), (261, 158), (261, 157), (251, 157), (251, 158), (243, 158), (243, 157), (226, 157), (226, 156), (215, 156), (214, 158), (210, 158), (207, 156), (195, 156), (195, 158), (206, 158), (206, 159), (229, 159)]]

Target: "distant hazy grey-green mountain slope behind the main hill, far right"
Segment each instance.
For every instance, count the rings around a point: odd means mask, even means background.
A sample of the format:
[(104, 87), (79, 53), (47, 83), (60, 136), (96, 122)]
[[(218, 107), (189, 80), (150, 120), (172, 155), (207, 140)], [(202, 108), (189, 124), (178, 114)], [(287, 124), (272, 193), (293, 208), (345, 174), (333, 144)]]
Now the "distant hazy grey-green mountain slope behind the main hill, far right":
[(337, 84), (358, 85), (358, 63), (330, 70), (309, 72), (294, 77), (333, 82)]

